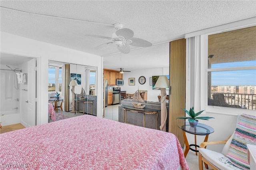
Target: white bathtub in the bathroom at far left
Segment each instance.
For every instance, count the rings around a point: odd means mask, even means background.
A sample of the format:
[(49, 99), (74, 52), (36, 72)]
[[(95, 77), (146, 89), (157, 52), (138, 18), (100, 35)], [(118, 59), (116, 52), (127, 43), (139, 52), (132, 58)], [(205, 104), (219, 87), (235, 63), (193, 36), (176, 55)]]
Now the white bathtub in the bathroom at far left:
[(20, 109), (14, 109), (13, 111), (1, 112), (0, 115), (4, 115), (0, 117), (2, 127), (20, 123), (19, 110)]

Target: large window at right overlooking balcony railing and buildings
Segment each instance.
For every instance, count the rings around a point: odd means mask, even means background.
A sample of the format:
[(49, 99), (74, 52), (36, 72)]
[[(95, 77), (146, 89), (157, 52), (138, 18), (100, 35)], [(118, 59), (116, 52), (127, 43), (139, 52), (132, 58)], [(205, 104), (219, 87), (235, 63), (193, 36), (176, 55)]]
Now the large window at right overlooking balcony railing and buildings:
[(256, 26), (208, 36), (208, 105), (256, 110)]

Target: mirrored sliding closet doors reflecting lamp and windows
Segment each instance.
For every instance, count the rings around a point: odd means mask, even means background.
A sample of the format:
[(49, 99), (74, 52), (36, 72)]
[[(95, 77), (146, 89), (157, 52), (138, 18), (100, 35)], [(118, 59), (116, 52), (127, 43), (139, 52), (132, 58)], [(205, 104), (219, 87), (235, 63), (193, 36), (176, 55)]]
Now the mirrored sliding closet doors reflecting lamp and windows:
[(49, 60), (48, 122), (97, 116), (96, 75), (96, 67)]

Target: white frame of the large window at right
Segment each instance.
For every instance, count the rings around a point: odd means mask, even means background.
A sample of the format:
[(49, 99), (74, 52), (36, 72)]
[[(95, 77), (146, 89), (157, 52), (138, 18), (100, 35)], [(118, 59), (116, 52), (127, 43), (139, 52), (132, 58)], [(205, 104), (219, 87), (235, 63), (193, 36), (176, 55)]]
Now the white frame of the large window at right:
[[(206, 113), (215, 113), (215, 114), (222, 114), (222, 115), (240, 115), (240, 114), (248, 114), (248, 115), (255, 115), (254, 110), (249, 109), (236, 109), (236, 108), (229, 108), (229, 107), (218, 107), (218, 106), (208, 106), (208, 71), (216, 71), (217, 69), (208, 69), (208, 36), (212, 34), (218, 34), (221, 32), (228, 32), (232, 30), (238, 30), (242, 28), (247, 28), (251, 26), (256, 26), (256, 17), (249, 18), (246, 20), (241, 20), (238, 22), (232, 22), (230, 24), (224, 24), (221, 26), (208, 28), (206, 30), (200, 30), (197, 32), (192, 32), (185, 35), (185, 38), (191, 38), (200, 36), (200, 47), (197, 48), (200, 50), (200, 109), (205, 110)], [(195, 44), (196, 45), (196, 44)], [(187, 56), (188, 57), (188, 56)], [(254, 67), (254, 66), (252, 66)], [(248, 67), (247, 67), (248, 68)], [(188, 69), (188, 68), (187, 68)], [(227, 71), (228, 69), (234, 68), (225, 68), (223, 71)], [(241, 68), (244, 69), (244, 68)], [(218, 71), (221, 71), (220, 69)], [(188, 79), (190, 77), (188, 76)], [(189, 89), (186, 89), (189, 90)], [(187, 92), (186, 92), (187, 93)], [(186, 103), (190, 103), (191, 99), (186, 98)]]

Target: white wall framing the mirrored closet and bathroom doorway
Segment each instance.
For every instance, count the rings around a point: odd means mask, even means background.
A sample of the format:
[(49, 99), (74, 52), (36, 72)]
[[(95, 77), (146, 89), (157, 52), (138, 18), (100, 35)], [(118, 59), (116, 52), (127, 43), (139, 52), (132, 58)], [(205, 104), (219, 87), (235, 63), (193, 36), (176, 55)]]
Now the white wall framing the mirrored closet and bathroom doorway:
[[(37, 76), (37, 125), (48, 123), (48, 60), (61, 61), (98, 67), (97, 91), (102, 91), (102, 57), (49, 43), (39, 42), (13, 34), (1, 32), (1, 51), (16, 55), (36, 57)], [(102, 103), (102, 94), (98, 93), (97, 103)], [(102, 117), (102, 105), (98, 105), (98, 116)]]

